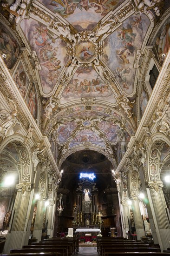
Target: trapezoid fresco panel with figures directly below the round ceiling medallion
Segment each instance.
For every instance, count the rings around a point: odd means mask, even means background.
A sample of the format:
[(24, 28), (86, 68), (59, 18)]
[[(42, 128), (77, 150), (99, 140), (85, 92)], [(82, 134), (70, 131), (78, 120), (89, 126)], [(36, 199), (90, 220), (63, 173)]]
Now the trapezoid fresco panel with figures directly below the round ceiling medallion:
[(114, 104), (115, 96), (108, 85), (100, 78), (97, 72), (90, 66), (87, 68), (78, 67), (71, 81), (65, 87), (60, 96), (61, 105), (71, 101), (85, 98), (96, 98)]

